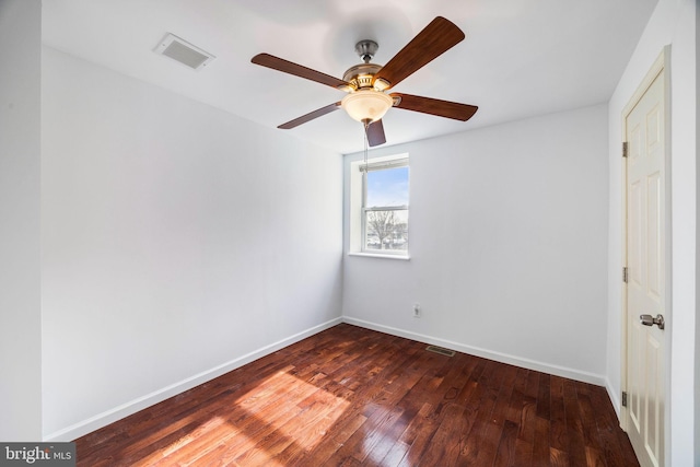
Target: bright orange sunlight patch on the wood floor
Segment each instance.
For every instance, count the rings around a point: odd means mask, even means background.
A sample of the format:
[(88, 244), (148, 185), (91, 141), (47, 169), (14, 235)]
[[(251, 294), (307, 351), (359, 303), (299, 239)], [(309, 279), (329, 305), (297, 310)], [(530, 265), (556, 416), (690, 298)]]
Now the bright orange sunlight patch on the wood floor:
[[(289, 457), (313, 450), (350, 402), (324, 388), (328, 384), (325, 374), (310, 374), (302, 380), (289, 374), (290, 370), (270, 375), (231, 400), (234, 409), (226, 418), (212, 413), (203, 423), (135, 465), (221, 462), (283, 466), (276, 456)], [(184, 429), (188, 421), (192, 420), (183, 419), (178, 424)]]

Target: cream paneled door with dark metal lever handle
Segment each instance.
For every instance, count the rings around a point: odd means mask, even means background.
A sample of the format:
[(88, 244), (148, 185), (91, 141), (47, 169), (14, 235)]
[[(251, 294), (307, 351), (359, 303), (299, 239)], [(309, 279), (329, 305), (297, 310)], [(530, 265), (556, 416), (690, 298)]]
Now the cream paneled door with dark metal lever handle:
[[(625, 117), (627, 151), (627, 431), (644, 466), (664, 465), (666, 184), (664, 68)], [(646, 316), (640, 316), (646, 315)], [(667, 316), (666, 316), (667, 317)]]

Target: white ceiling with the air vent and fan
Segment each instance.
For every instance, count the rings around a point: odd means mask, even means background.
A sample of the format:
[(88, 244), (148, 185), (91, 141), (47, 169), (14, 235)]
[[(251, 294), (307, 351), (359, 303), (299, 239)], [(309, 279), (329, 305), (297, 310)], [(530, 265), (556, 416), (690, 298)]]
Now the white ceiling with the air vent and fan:
[[(393, 108), (387, 145), (606, 102), (657, 0), (44, 0), (50, 47), (267, 127), (339, 101), (329, 86), (250, 63), (268, 52), (342, 78), (354, 44), (386, 63), (433, 17), (466, 39), (393, 92), (479, 106), (467, 122)], [(153, 49), (166, 33), (217, 58), (194, 71)], [(341, 153), (361, 124), (335, 112), (285, 131)]]

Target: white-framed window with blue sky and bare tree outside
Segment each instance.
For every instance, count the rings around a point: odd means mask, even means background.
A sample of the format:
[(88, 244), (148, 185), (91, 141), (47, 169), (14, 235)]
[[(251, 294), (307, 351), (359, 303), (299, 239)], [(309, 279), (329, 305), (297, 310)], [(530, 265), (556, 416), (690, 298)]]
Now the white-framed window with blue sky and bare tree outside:
[(351, 196), (355, 201), (351, 250), (408, 256), (407, 155), (382, 157), (366, 164), (354, 162), (351, 170), (354, 178)]

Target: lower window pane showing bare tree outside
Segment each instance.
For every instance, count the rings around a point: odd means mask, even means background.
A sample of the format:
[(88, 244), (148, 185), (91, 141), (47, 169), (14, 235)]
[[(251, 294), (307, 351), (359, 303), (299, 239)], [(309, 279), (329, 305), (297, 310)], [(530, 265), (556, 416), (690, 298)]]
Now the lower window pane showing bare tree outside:
[(364, 211), (364, 225), (365, 249), (408, 249), (408, 209)]

